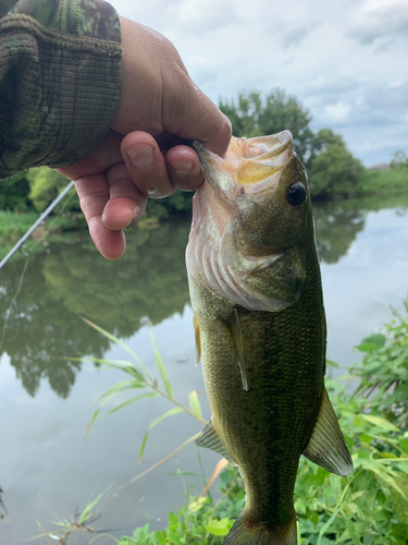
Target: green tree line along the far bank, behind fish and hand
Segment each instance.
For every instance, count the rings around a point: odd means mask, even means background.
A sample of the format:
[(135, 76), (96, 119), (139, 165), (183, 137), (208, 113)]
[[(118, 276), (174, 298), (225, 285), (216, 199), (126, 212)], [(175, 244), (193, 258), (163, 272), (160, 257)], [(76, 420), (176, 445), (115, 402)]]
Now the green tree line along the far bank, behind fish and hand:
[[(339, 134), (331, 129), (314, 133), (310, 128), (309, 110), (285, 90), (274, 89), (265, 96), (258, 92), (242, 93), (235, 99), (221, 99), (219, 106), (230, 118), (233, 134), (238, 137), (262, 136), (288, 129), (307, 167), (314, 198), (408, 187), (408, 157), (404, 152), (396, 152), (388, 172), (368, 171)], [(22, 172), (0, 183), (0, 209), (41, 211), (66, 183), (63, 175), (46, 167)], [(162, 219), (188, 214), (190, 209), (191, 193), (176, 192), (162, 201), (150, 199), (147, 215)], [(79, 211), (77, 197), (71, 199), (67, 210)]]

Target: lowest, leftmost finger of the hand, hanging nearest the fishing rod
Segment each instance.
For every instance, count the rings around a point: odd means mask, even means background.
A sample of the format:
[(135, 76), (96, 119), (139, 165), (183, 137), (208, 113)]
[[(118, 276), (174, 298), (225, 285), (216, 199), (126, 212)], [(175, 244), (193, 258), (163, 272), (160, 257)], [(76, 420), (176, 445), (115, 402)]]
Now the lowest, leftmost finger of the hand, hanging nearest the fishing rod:
[(75, 189), (95, 245), (107, 259), (119, 259), (126, 249), (123, 231), (112, 231), (102, 222), (103, 209), (109, 201), (106, 175), (78, 178)]

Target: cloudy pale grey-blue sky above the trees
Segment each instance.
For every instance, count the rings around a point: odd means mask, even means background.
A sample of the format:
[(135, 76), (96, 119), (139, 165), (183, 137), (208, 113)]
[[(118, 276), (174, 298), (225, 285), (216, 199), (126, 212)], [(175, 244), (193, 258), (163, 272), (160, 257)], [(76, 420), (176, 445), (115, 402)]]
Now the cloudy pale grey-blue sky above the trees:
[(366, 167), (408, 154), (408, 0), (111, 3), (164, 34), (215, 104), (280, 87)]

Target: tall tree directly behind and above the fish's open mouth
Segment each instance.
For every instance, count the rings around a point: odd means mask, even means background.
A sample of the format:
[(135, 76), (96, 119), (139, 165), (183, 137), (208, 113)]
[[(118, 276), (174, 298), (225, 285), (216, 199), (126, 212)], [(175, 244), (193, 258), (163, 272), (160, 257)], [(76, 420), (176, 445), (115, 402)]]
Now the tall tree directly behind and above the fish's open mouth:
[(219, 106), (230, 119), (235, 136), (251, 138), (288, 129), (300, 158), (310, 155), (313, 143), (310, 112), (285, 90), (277, 88), (265, 97), (260, 93), (242, 93), (237, 101), (221, 99)]

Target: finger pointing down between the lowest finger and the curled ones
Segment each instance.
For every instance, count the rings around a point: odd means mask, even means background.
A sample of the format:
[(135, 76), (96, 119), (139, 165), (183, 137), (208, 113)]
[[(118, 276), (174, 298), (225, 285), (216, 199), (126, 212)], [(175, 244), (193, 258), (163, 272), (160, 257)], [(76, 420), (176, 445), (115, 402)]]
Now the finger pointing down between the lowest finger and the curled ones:
[(141, 218), (147, 197), (135, 185), (126, 166), (122, 162), (107, 172), (109, 201), (102, 213), (102, 222), (118, 231), (136, 225)]

